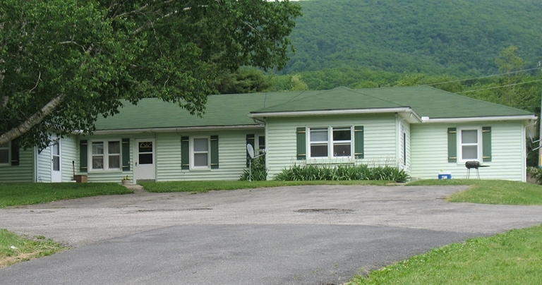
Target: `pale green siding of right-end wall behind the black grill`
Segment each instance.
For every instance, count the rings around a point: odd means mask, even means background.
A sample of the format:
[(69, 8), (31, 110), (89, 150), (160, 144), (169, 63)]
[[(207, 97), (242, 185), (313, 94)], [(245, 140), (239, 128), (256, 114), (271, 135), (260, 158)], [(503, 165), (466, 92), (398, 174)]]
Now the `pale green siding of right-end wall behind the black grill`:
[[(476, 124), (414, 124), (411, 126), (411, 155), (414, 178), (438, 178), (438, 172), (450, 171), (452, 178), (466, 178), (465, 162), (448, 162), (448, 128), (491, 127), (491, 162), (479, 169), (482, 179), (525, 180), (524, 126), (522, 122), (479, 122)], [(470, 178), (476, 178), (471, 169)]]

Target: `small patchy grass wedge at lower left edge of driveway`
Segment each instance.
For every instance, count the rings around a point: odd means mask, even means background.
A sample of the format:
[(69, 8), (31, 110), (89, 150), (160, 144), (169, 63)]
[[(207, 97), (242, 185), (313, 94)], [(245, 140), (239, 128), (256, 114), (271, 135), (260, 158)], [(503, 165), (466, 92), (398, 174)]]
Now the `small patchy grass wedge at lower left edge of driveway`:
[(6, 229), (0, 229), (0, 268), (17, 262), (44, 257), (65, 250), (62, 245), (43, 236), (32, 239), (18, 236)]

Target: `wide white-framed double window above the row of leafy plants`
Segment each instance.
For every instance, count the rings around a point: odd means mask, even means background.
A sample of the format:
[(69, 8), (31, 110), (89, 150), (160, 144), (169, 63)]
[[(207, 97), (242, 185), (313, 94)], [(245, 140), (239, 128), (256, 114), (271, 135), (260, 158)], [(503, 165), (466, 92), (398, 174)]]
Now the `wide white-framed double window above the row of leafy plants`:
[(352, 128), (308, 128), (308, 157), (352, 157)]

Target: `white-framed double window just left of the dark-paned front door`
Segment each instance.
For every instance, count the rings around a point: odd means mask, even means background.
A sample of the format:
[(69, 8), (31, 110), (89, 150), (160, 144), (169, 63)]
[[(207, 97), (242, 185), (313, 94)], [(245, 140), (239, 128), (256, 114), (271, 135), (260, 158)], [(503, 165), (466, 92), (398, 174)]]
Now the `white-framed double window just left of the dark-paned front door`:
[(121, 140), (92, 141), (90, 145), (90, 169), (121, 169)]

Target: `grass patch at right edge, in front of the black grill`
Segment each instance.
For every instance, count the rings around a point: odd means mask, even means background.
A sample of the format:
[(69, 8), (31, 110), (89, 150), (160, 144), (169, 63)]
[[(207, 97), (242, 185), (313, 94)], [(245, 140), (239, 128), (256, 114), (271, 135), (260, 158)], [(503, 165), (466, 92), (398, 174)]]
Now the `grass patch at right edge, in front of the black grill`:
[(409, 186), (470, 185), (468, 190), (455, 193), (448, 202), (471, 202), (495, 205), (542, 205), (542, 186), (506, 180), (428, 179), (414, 181)]

